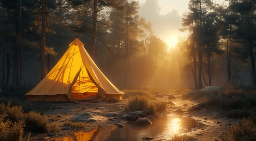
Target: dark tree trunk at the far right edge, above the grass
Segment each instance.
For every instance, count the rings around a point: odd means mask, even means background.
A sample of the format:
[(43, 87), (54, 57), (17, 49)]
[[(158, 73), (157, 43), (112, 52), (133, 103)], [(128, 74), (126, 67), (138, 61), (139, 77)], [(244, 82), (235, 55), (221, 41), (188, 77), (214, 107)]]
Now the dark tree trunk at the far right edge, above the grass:
[(252, 45), (253, 45), (253, 37), (252, 35), (250, 35), (249, 54), (250, 54), (250, 60), (251, 60), (252, 85), (256, 85), (255, 60), (254, 60)]

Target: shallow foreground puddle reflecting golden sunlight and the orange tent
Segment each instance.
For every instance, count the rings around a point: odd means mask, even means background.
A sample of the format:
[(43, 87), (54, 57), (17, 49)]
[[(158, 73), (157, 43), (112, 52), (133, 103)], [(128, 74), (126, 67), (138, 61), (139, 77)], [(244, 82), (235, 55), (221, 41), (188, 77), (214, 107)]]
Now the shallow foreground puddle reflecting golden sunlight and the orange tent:
[(204, 125), (193, 118), (168, 117), (152, 121), (147, 127), (132, 123), (125, 127), (104, 126), (90, 132), (77, 132), (74, 136), (56, 139), (56, 141), (138, 141), (142, 137), (170, 137), (175, 133), (187, 133), (202, 128)]

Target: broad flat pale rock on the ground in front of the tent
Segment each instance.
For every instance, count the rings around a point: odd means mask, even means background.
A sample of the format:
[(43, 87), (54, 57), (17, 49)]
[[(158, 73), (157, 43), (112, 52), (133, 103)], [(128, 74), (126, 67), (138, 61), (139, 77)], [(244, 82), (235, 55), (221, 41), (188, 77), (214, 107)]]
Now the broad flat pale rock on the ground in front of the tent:
[(104, 116), (99, 116), (91, 112), (84, 112), (76, 116), (73, 116), (70, 119), (71, 122), (86, 122), (86, 121), (92, 122), (92, 121), (103, 121), (103, 120), (108, 120), (108, 118)]

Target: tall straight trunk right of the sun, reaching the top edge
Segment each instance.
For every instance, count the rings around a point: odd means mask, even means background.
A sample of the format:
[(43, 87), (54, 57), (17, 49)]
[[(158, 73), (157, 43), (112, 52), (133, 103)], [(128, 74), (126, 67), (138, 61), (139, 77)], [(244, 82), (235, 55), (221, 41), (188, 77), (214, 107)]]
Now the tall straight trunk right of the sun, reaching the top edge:
[(198, 46), (198, 87), (203, 88), (202, 85), (202, 0), (200, 0), (200, 20), (199, 20), (199, 46)]

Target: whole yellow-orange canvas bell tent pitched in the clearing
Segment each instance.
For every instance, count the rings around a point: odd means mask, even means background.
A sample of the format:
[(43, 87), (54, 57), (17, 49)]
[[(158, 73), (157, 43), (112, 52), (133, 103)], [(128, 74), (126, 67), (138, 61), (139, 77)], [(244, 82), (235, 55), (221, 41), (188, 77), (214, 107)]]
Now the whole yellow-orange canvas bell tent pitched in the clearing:
[(25, 95), (32, 101), (69, 101), (97, 95), (103, 100), (113, 96), (120, 100), (122, 94), (93, 62), (80, 39), (75, 38), (46, 77)]

